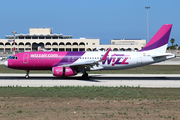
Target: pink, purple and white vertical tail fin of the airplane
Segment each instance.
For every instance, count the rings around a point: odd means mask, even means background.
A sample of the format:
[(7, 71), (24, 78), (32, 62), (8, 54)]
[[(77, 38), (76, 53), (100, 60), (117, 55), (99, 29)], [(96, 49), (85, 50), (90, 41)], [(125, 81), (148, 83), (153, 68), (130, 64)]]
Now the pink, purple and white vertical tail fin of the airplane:
[(152, 37), (152, 39), (147, 43), (147, 45), (139, 51), (154, 51), (165, 53), (169, 41), (169, 36), (171, 33), (171, 28), (172, 24), (164, 24), (159, 29), (159, 31)]

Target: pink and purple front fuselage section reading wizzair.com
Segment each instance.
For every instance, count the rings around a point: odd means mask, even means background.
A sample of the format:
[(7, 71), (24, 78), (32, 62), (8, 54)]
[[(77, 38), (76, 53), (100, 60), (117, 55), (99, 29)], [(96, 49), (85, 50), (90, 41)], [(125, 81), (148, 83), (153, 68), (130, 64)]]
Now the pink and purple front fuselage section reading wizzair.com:
[(50, 70), (52, 67), (72, 64), (85, 52), (23, 52), (7, 60), (7, 66), (21, 70)]

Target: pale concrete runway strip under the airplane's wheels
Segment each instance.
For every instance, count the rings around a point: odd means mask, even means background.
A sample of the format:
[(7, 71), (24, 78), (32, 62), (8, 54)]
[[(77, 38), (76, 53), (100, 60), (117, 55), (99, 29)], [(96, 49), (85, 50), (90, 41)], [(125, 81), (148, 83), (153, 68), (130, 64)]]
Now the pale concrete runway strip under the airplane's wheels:
[(25, 79), (24, 76), (25, 74), (0, 74), (0, 86), (180, 87), (179, 74), (90, 74), (87, 80), (82, 79), (81, 75), (61, 78), (51, 74), (30, 74), (29, 79)]

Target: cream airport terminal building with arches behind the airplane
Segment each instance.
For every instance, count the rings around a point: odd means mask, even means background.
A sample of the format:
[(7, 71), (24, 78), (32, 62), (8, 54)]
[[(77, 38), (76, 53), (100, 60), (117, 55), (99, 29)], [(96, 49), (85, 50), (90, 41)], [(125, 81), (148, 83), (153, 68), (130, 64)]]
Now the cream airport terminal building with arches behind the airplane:
[[(15, 38), (15, 42), (14, 42)], [(11, 53), (16, 51), (37, 51), (38, 47), (53, 51), (133, 51), (140, 50), (146, 45), (146, 40), (111, 40), (109, 45), (101, 45), (99, 39), (79, 38), (73, 39), (72, 35), (52, 34), (51, 28), (30, 28), (29, 34), (6, 35), (0, 39), (0, 52)]]

